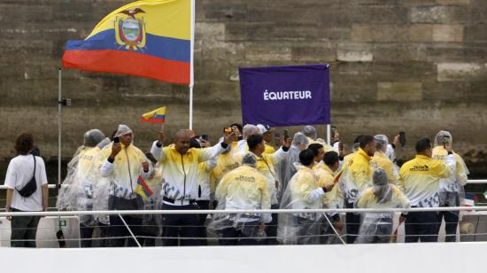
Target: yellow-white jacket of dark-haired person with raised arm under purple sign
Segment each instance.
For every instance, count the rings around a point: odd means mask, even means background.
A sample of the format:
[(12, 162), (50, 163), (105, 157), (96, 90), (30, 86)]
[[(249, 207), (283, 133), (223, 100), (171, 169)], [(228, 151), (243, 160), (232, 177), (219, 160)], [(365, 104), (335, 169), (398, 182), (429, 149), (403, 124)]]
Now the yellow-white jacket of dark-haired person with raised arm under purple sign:
[(262, 156), (258, 156), (257, 154), (255, 154), (255, 157), (257, 158), (256, 168), (260, 172), (260, 174), (266, 176), (272, 205), (277, 205), (279, 202), (277, 200), (277, 189), (275, 187), (275, 183), (279, 183), (279, 181), (277, 179), (277, 174), (275, 173), (275, 167), (283, 159), (286, 158), (287, 154), (288, 152), (284, 152), (284, 150), (282, 150), (282, 147), (271, 154), (262, 153)]

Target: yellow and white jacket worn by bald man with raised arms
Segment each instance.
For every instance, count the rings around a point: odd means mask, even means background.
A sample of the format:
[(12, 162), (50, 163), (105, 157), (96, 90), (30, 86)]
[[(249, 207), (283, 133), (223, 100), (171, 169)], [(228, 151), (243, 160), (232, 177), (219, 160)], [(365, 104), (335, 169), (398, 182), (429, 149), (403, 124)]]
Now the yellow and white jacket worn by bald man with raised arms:
[[(161, 195), (168, 205), (185, 206), (198, 197), (199, 163), (215, 158), (225, 151), (221, 143), (210, 148), (191, 148), (186, 154), (177, 152), (174, 145), (158, 147), (152, 144), (151, 153), (164, 168)], [(171, 201), (174, 201), (172, 203)]]

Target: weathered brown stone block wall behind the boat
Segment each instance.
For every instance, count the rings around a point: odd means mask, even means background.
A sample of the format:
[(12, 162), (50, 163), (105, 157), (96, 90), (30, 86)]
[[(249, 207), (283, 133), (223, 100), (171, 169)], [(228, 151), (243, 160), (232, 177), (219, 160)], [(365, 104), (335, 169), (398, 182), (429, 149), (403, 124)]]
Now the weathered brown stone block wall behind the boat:
[[(12, 140), (25, 130), (47, 159), (56, 156), (66, 40), (86, 37), (126, 3), (0, 2), (0, 158), (12, 155)], [(347, 143), (359, 133), (405, 130), (409, 143), (399, 152), (406, 158), (415, 139), (448, 129), (479, 172), (487, 152), (486, 24), (485, 0), (197, 0), (195, 129), (214, 140), (241, 121), (237, 67), (327, 62), (332, 119)], [(184, 86), (66, 70), (63, 92), (73, 99), (63, 113), (66, 159), (84, 131), (110, 134), (120, 122), (147, 148), (158, 127), (140, 115), (159, 105), (168, 106), (168, 132), (187, 127)]]

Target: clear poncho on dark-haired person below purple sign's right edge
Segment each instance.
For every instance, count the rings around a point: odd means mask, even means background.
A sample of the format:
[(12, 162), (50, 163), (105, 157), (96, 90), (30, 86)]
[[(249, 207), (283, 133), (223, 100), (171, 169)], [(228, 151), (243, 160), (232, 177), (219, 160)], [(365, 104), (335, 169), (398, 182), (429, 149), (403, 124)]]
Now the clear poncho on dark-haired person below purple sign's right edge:
[[(296, 164), (293, 175), (281, 201), (281, 209), (321, 208), (324, 191), (311, 168)], [(320, 244), (320, 232), (324, 223), (322, 213), (279, 214), (277, 239), (286, 245)]]

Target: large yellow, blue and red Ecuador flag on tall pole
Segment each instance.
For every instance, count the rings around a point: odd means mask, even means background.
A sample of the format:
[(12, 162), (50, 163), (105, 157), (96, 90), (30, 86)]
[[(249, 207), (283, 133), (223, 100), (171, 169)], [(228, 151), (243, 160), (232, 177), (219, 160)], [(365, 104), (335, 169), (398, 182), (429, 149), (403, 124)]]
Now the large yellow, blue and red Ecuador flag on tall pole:
[(84, 40), (68, 41), (63, 66), (192, 83), (194, 0), (142, 0), (101, 20)]

